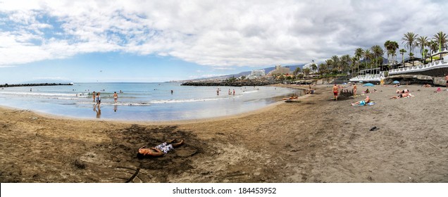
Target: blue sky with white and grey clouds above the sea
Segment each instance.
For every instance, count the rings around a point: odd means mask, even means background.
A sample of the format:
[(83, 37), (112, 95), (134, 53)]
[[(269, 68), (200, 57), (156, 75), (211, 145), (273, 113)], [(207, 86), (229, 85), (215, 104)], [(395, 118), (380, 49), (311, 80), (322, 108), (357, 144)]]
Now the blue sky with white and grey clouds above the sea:
[(402, 49), (406, 32), (448, 33), (447, 12), (448, 1), (430, 0), (0, 0), (0, 84), (167, 82), (321, 63), (386, 40)]

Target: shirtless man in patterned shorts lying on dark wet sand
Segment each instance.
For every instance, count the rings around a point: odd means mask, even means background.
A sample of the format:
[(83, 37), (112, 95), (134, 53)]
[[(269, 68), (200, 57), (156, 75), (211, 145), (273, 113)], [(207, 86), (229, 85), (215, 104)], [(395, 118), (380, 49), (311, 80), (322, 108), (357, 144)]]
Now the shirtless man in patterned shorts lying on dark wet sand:
[(174, 148), (177, 148), (184, 144), (183, 139), (173, 139), (170, 141), (163, 142), (162, 144), (159, 144), (155, 147), (147, 148), (147, 146), (142, 146), (142, 148), (139, 148), (139, 151), (137, 153), (137, 158), (142, 159), (145, 156), (151, 156), (151, 157), (160, 157), (168, 153), (169, 151), (172, 151)]

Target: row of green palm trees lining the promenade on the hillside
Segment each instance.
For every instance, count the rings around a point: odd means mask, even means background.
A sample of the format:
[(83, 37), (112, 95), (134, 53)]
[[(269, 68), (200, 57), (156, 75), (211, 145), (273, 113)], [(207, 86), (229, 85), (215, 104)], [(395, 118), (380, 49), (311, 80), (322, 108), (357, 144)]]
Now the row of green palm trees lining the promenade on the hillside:
[[(417, 47), (420, 48), (421, 58), (423, 61), (428, 57), (428, 52), (434, 53), (435, 51), (442, 51), (443, 47), (447, 47), (448, 35), (444, 32), (437, 32), (433, 36), (433, 39), (429, 39), (426, 36), (418, 37), (418, 34), (413, 32), (407, 32), (402, 37), (402, 44), (404, 49), (399, 49), (399, 44), (394, 41), (387, 40), (384, 43), (384, 49), (379, 45), (374, 45), (370, 49), (358, 48), (354, 51), (354, 56), (332, 56), (326, 60), (325, 63), (319, 65), (311, 65), (311, 69), (305, 68), (304, 75), (309, 75), (311, 70), (314, 71), (318, 68), (319, 75), (337, 75), (345, 73), (356, 73), (359, 70), (368, 68), (389, 68), (389, 66), (397, 65), (397, 50), (402, 54), (402, 63), (404, 65), (404, 54), (409, 50), (409, 57), (412, 60), (414, 58), (413, 50)], [(383, 65), (383, 55), (387, 53), (387, 65)], [(431, 56), (432, 57), (432, 56)], [(431, 61), (433, 61), (431, 59)], [(294, 70), (294, 75), (300, 72), (300, 68)], [(353, 74), (352, 74), (353, 75)]]

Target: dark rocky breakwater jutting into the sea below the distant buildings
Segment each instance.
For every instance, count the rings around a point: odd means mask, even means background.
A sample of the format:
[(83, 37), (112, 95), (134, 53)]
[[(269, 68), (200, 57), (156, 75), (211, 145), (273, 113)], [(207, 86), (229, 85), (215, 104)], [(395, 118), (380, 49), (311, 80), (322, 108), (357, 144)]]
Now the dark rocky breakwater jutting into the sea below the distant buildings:
[(265, 86), (270, 84), (276, 84), (278, 82), (269, 80), (238, 80), (234, 82), (229, 81), (190, 81), (184, 82), (182, 86), (230, 86), (230, 87), (242, 87), (242, 86)]

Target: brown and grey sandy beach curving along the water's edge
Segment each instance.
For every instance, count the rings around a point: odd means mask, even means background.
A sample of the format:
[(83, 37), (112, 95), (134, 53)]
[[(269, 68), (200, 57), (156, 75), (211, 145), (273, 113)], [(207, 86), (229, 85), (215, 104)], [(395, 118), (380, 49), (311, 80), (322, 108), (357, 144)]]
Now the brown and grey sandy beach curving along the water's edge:
[[(397, 88), (377, 86), (375, 105), (351, 106), (365, 97), (332, 101), (331, 87), (256, 112), (163, 124), (0, 108), (0, 182), (448, 182), (448, 91), (402, 86), (415, 96), (390, 100)], [(173, 138), (185, 144), (137, 159), (140, 146)]]

